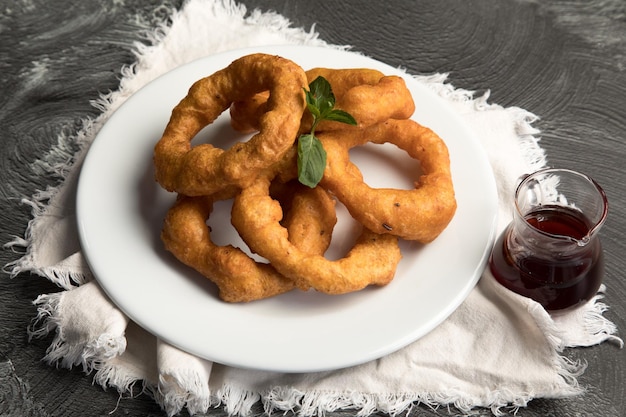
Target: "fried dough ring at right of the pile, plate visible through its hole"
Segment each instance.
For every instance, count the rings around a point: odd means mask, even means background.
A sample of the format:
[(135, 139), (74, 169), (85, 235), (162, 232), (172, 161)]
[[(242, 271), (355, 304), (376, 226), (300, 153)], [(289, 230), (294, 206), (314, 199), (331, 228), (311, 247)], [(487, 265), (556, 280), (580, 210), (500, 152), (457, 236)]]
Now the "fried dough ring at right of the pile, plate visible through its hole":
[[(318, 135), (328, 159), (320, 186), (332, 192), (350, 214), (376, 233), (427, 243), (456, 211), (450, 157), (443, 140), (413, 120), (388, 120), (365, 129)], [(370, 188), (348, 151), (367, 142), (395, 144), (420, 163), (412, 190)]]

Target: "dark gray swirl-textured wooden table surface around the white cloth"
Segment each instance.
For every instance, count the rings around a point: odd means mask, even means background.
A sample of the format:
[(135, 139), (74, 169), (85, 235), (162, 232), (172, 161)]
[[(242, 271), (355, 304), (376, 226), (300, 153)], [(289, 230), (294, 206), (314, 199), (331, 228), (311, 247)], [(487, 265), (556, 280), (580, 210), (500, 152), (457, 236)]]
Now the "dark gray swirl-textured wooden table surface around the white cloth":
[[(274, 10), (328, 42), (410, 72), (449, 73), (453, 85), (540, 116), (549, 164), (594, 177), (609, 197), (602, 231), (606, 316), (626, 329), (626, 2), (522, 0), (243, 1)], [(58, 178), (30, 164), (94, 117), (90, 105), (115, 90), (133, 62), (133, 42), (180, 0), (0, 0), (0, 240), (24, 234), (31, 208), (21, 203)], [(139, 18), (138, 18), (139, 17)], [(0, 263), (19, 257), (0, 251)], [(40, 362), (50, 340), (28, 341), (32, 300), (56, 291), (43, 278), (0, 279), (0, 415), (165, 415), (145, 395), (119, 399), (80, 370)], [(331, 341), (332, 343), (332, 341)], [(612, 344), (567, 352), (588, 362), (588, 392), (538, 399), (519, 416), (626, 415), (626, 352)], [(223, 415), (217, 409), (210, 415)], [(333, 415), (351, 415), (334, 413)], [(414, 416), (448, 415), (416, 407)], [(489, 415), (485, 412), (485, 415)]]

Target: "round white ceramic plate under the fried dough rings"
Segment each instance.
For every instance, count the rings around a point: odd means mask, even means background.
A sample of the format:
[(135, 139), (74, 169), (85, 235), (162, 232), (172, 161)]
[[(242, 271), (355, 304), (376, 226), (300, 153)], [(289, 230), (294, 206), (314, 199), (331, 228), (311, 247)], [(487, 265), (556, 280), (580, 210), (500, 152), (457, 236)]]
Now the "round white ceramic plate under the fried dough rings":
[[(227, 304), (216, 297), (206, 278), (163, 249), (161, 223), (175, 196), (153, 180), (154, 144), (172, 108), (194, 81), (252, 52), (282, 55), (305, 69), (368, 67), (405, 76), (416, 102), (414, 118), (446, 141), (458, 199), (456, 215), (433, 243), (423, 247), (402, 244), (404, 257), (388, 286), (343, 296), (294, 291), (249, 304)], [(227, 117), (220, 117), (197, 140), (229, 146), (237, 135)], [(370, 145), (354, 152), (370, 185), (400, 181), (397, 186), (410, 186), (410, 181), (401, 178), (407, 170), (413, 170), (409, 180), (415, 176), (415, 165), (391, 148)], [(389, 155), (400, 162), (390, 162)], [(494, 238), (496, 213), (495, 182), (483, 149), (446, 102), (381, 62), (302, 46), (213, 55), (148, 84), (99, 132), (85, 159), (77, 193), (84, 254), (102, 288), (133, 321), (205, 359), (281, 372), (356, 365), (396, 351), (431, 331), (478, 281)], [(331, 257), (339, 256), (350, 242), (345, 237), (350, 220), (340, 215)], [(228, 216), (228, 203), (224, 203), (209, 221), (217, 229), (218, 244), (237, 240)]]

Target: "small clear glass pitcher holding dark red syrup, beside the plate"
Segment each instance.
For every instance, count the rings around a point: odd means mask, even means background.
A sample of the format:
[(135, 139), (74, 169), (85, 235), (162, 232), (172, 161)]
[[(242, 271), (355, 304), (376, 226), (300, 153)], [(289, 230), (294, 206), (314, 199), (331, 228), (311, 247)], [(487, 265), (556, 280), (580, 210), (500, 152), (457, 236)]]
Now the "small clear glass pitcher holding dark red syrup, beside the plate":
[(550, 312), (575, 308), (602, 283), (598, 232), (607, 212), (606, 194), (586, 175), (549, 168), (524, 177), (513, 220), (491, 254), (491, 273)]

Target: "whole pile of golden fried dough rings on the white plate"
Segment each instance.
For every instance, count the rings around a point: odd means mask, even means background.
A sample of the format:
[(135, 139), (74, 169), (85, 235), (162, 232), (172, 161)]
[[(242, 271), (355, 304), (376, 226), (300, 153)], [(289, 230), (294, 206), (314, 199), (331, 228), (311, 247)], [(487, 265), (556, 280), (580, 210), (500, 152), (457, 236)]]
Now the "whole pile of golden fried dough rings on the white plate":
[[(321, 182), (297, 180), (297, 138), (310, 131), (304, 90), (326, 78), (336, 108), (356, 126), (324, 121), (316, 136), (327, 152)], [(193, 146), (194, 137), (230, 109), (231, 126), (252, 135), (221, 149)], [(219, 289), (227, 302), (248, 302), (290, 290), (344, 294), (384, 286), (402, 254), (399, 239), (435, 239), (456, 210), (448, 149), (410, 117), (415, 104), (404, 80), (372, 69), (305, 71), (273, 55), (251, 54), (195, 82), (173, 109), (154, 149), (155, 177), (177, 193), (161, 232), (166, 249)], [(392, 143), (416, 160), (415, 188), (370, 188), (349, 150)], [(214, 204), (232, 199), (231, 223), (256, 261), (233, 245), (219, 246), (207, 226)], [(336, 202), (361, 225), (339, 259), (325, 256), (337, 222)]]

